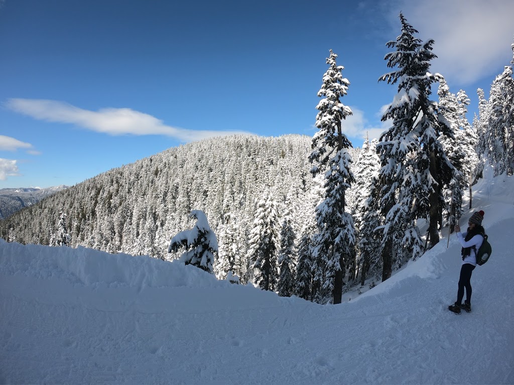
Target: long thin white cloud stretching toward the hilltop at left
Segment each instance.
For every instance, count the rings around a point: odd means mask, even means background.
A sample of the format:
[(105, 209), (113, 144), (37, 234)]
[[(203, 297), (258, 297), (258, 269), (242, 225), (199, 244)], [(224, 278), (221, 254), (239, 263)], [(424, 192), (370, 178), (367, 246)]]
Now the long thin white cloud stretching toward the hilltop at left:
[(67, 103), (45, 99), (10, 99), (7, 107), (34, 119), (69, 123), (111, 135), (166, 135), (183, 142), (227, 136), (244, 131), (188, 130), (164, 124), (152, 115), (130, 108), (90, 111)]

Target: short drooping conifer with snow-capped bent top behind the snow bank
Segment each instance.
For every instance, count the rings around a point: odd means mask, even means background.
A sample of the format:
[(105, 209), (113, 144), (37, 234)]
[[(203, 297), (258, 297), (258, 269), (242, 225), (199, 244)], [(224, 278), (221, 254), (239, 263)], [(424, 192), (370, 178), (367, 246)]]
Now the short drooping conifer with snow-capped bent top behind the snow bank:
[(215, 253), (218, 251), (216, 235), (211, 230), (204, 211), (192, 210), (190, 218), (196, 219), (191, 230), (184, 230), (174, 236), (168, 246), (168, 253), (185, 248), (180, 260), (212, 274)]

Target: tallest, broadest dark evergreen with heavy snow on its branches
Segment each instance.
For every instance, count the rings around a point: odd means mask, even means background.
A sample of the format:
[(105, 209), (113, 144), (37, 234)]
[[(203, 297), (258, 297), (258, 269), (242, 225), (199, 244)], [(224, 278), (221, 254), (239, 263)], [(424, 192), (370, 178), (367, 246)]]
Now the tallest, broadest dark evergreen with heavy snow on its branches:
[(380, 209), (385, 218), (382, 280), (391, 276), (393, 263), (421, 254), (417, 218), (429, 219), (431, 246), (439, 241), (442, 188), (455, 172), (438, 140), (451, 137), (451, 129), (437, 103), (429, 100), (436, 82), (429, 72), (430, 61), (436, 57), (431, 51), (434, 41), (421, 42), (414, 36), (418, 31), (403, 14), (399, 17), (401, 34), (387, 43), (396, 51), (385, 57), (388, 67), (397, 69), (380, 78), (388, 84), (398, 83), (398, 93), (382, 117), (382, 121), (392, 120), (393, 126), (377, 145)]

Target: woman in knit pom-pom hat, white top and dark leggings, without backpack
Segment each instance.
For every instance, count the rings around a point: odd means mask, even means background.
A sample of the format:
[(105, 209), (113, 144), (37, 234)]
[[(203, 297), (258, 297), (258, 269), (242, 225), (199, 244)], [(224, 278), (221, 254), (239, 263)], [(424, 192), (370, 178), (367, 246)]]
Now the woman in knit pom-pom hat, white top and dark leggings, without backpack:
[[(448, 306), (448, 309), (456, 314), (461, 314), (461, 307), (466, 312), (471, 312), (471, 273), (476, 266), (476, 252), (484, 241), (485, 230), (482, 227), (484, 211), (475, 211), (468, 222), (468, 230), (461, 233), (461, 227), (455, 225), (457, 239), (462, 245), (462, 267), (461, 277), (458, 280), (457, 301)], [(466, 288), (466, 301), (464, 298), (464, 288)]]

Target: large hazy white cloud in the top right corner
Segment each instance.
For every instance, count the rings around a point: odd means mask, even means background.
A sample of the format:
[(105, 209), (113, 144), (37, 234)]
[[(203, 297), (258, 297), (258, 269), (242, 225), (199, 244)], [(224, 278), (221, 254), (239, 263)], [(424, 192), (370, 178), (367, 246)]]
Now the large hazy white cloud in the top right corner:
[(512, 59), (514, 1), (400, 0), (399, 9), (422, 40), (435, 41), (433, 52), (438, 57), (431, 70), (447, 80), (471, 84), (501, 71)]

